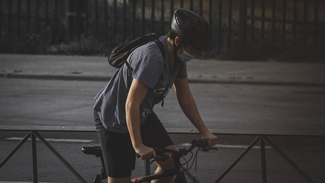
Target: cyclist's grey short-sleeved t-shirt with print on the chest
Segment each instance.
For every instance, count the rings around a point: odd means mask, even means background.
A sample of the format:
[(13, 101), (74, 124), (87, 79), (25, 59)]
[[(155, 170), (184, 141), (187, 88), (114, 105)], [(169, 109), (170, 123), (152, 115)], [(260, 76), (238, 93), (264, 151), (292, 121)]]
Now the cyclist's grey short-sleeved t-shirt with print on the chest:
[(140, 123), (146, 120), (153, 106), (167, 96), (176, 77), (187, 78), (185, 62), (180, 62), (180, 69), (179, 65), (170, 64), (167, 37), (159, 37), (159, 40), (165, 48), (165, 60), (159, 47), (153, 41), (135, 49), (126, 60), (134, 71), (131, 72), (124, 64), (95, 97), (94, 110), (98, 112), (107, 130), (116, 133), (128, 131), (125, 102), (133, 78), (149, 87), (140, 105)]

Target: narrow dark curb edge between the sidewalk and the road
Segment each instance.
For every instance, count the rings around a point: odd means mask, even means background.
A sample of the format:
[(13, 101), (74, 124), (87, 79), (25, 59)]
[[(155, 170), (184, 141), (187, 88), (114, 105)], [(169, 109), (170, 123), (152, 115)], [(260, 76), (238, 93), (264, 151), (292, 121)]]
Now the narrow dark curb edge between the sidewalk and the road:
[[(17, 79), (45, 79), (45, 80), (76, 80), (76, 81), (109, 81), (111, 76), (82, 76), (82, 75), (49, 75), (49, 74), (0, 74), (0, 78)], [(247, 85), (279, 85), (279, 86), (309, 86), (325, 87), (325, 83), (296, 82), (296, 81), (247, 81), (247, 80), (209, 80), (188, 78), (190, 83), (211, 83), (211, 84), (247, 84)]]

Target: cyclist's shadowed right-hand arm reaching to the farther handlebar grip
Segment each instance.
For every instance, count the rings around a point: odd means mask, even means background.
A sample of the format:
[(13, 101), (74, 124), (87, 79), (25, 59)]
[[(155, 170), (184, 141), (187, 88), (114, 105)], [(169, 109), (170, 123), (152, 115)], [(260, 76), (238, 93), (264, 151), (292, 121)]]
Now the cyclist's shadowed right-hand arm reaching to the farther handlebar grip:
[(174, 87), (178, 103), (186, 117), (191, 121), (194, 127), (199, 130), (200, 134), (202, 135), (202, 138), (208, 140), (209, 146), (215, 145), (217, 137), (211, 134), (208, 128), (205, 126), (200, 116), (197, 104), (190, 92), (187, 78), (176, 78), (174, 82)]

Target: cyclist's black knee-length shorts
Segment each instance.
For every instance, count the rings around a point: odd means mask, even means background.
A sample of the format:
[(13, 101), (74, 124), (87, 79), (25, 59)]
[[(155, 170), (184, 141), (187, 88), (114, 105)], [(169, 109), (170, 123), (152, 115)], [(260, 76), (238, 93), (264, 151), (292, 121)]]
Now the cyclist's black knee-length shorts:
[[(136, 153), (129, 133), (113, 133), (106, 130), (96, 112), (94, 120), (102, 146), (106, 174), (114, 178), (131, 176), (131, 171), (135, 169)], [(140, 126), (140, 131), (142, 142), (148, 147), (163, 148), (174, 144), (154, 112)]]

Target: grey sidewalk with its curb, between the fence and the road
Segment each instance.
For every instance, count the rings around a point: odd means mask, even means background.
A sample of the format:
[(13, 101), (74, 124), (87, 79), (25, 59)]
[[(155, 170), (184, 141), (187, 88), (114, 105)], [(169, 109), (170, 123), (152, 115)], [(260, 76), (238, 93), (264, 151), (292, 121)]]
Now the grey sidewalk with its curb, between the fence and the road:
[[(115, 68), (107, 57), (0, 54), (0, 76), (108, 81)], [(190, 82), (325, 86), (325, 64), (235, 62), (193, 59)]]

